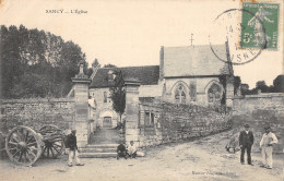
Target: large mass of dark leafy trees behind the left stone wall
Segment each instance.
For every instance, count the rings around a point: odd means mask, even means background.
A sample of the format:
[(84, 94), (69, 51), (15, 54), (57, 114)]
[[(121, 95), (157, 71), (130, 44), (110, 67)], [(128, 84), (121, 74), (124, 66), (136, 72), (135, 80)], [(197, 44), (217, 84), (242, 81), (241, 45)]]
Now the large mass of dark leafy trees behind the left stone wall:
[[(62, 97), (85, 55), (73, 41), (23, 25), (0, 29), (1, 98)], [(85, 70), (92, 74), (88, 70)]]

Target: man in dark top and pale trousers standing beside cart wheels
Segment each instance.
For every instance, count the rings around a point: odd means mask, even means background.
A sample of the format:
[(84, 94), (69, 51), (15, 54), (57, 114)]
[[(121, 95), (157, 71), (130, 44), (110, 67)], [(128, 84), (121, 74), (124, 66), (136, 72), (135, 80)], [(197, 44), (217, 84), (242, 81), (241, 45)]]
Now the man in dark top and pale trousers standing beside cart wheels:
[(84, 166), (83, 164), (80, 164), (79, 159), (79, 152), (76, 146), (76, 130), (72, 130), (71, 134), (67, 136), (66, 147), (69, 150), (69, 159), (68, 159), (68, 166), (72, 167), (72, 161), (75, 159), (76, 166)]

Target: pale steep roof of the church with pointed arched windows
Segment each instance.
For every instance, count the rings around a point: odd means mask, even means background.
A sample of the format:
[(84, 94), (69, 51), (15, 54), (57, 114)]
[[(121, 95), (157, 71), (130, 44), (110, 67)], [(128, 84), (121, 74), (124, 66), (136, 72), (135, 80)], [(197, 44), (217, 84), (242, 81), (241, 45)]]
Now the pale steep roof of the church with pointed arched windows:
[[(216, 53), (226, 60), (226, 47), (214, 45)], [(210, 45), (164, 47), (164, 76), (202, 76), (228, 74), (227, 63), (218, 60)]]

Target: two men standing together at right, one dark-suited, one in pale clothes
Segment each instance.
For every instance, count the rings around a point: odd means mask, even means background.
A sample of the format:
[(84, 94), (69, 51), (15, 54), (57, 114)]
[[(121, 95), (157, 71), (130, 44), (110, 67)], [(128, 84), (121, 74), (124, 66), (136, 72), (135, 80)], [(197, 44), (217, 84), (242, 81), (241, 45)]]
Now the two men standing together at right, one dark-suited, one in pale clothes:
[[(249, 130), (249, 124), (245, 124), (245, 130), (239, 134), (239, 147), (240, 147), (240, 164), (245, 165), (245, 152), (247, 150), (247, 161), (248, 165), (253, 166), (251, 162), (251, 146), (253, 145), (253, 134), (252, 131)], [(261, 155), (262, 155), (262, 165), (260, 167), (272, 169), (272, 152), (273, 144), (276, 144), (277, 137), (274, 133), (271, 132), (270, 126), (264, 128), (265, 133), (263, 134), (260, 141)]]

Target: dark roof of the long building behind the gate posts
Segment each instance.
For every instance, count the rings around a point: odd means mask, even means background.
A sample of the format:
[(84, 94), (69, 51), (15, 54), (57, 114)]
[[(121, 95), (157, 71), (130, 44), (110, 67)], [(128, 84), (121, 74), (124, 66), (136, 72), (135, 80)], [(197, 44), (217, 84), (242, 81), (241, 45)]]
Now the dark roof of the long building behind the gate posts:
[(122, 72), (123, 77), (132, 77), (141, 81), (142, 85), (157, 85), (159, 65), (126, 67), (126, 68), (99, 68), (92, 80), (91, 88), (109, 87), (108, 72)]

